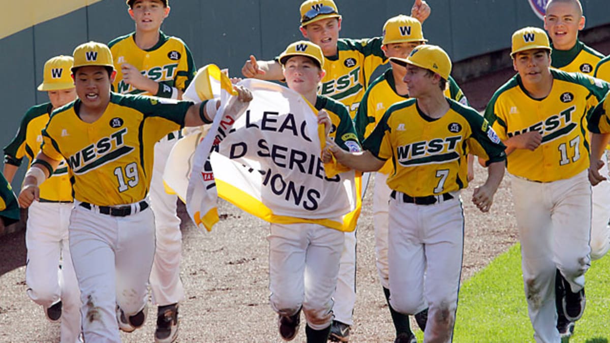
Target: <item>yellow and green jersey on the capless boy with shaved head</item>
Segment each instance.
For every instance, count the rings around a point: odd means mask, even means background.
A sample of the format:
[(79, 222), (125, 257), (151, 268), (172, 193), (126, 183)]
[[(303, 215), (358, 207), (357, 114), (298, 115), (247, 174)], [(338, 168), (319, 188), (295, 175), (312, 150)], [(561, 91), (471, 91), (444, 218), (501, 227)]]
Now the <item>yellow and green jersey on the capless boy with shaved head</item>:
[(551, 67), (568, 73), (583, 73), (593, 76), (595, 66), (604, 56), (582, 42), (569, 50), (553, 49), (551, 52)]

